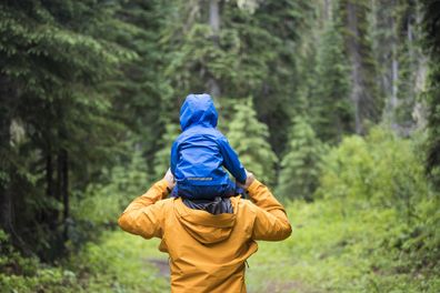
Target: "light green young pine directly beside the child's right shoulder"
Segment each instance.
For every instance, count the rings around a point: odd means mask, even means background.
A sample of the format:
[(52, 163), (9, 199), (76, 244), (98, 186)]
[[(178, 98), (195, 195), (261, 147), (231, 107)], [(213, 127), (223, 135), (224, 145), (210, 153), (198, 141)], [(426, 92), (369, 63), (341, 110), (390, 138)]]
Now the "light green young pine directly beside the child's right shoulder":
[(274, 183), (277, 155), (268, 143), (268, 127), (257, 120), (252, 98), (233, 107), (228, 139), (244, 168), (267, 184)]

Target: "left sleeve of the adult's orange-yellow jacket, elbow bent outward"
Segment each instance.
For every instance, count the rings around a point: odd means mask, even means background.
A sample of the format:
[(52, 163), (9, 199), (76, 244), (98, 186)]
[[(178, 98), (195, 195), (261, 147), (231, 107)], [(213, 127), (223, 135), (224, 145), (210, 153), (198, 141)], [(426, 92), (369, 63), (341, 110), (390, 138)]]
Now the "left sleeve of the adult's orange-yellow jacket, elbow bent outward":
[(119, 226), (144, 239), (161, 238), (163, 234), (167, 181), (154, 183), (146, 194), (134, 199), (118, 220)]

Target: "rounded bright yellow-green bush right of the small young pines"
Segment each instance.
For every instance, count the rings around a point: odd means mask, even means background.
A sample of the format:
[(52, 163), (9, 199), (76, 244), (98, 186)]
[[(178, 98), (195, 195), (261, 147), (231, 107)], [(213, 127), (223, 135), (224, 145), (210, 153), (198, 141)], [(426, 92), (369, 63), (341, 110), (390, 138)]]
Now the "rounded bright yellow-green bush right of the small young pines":
[(407, 222), (416, 216), (416, 203), (429, 194), (411, 141), (380, 128), (366, 139), (346, 138), (326, 156), (322, 172), (318, 192), (324, 198), (394, 206)]

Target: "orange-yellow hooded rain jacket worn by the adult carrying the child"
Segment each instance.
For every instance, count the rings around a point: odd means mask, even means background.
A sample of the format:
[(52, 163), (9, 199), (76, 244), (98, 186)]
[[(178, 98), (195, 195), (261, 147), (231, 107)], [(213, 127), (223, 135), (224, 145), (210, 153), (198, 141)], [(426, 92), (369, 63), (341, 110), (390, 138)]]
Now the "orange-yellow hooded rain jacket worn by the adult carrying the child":
[(210, 214), (166, 199), (167, 181), (157, 182), (119, 218), (127, 232), (160, 238), (170, 255), (171, 292), (246, 292), (244, 261), (256, 240), (279, 241), (291, 234), (284, 209), (267, 186), (254, 180), (251, 201), (231, 198), (233, 213)]

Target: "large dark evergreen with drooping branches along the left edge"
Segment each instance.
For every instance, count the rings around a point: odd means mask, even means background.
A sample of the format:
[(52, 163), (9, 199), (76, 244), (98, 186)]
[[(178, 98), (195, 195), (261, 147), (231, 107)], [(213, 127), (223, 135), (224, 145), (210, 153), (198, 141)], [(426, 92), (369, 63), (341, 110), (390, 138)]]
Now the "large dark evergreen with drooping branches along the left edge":
[[(42, 239), (33, 250), (66, 239), (71, 178), (111, 158), (118, 140), (121, 125), (98, 84), (133, 54), (94, 34), (112, 28), (113, 11), (89, 1), (0, 3), (0, 224), (20, 243)], [(12, 124), (21, 143), (11, 144)]]

